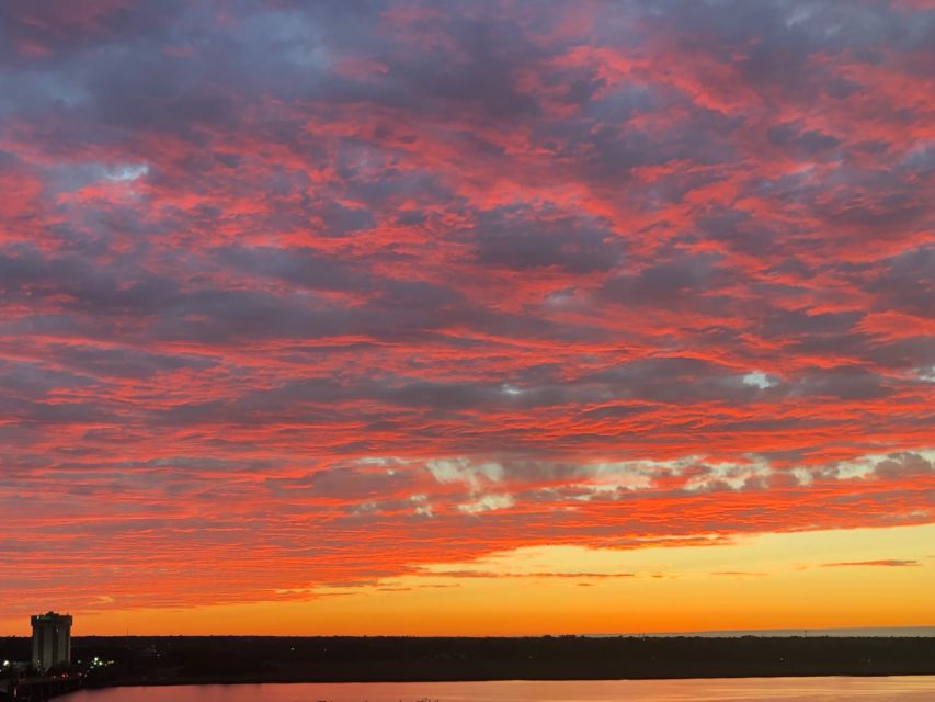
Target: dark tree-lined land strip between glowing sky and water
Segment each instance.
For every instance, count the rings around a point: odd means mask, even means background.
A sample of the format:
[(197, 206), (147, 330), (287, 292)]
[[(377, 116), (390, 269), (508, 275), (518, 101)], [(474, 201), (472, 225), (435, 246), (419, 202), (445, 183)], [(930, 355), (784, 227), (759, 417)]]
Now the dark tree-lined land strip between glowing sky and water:
[[(30, 656), (0, 639), (0, 659)], [(80, 637), (90, 687), (935, 675), (935, 638)]]

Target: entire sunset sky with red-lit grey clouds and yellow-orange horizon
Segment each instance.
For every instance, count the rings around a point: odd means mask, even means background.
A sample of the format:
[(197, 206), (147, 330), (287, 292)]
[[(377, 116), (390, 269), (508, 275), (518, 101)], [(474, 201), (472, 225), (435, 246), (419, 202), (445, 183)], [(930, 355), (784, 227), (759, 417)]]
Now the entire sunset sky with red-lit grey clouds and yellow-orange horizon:
[(935, 625), (935, 3), (0, 2), (0, 635)]

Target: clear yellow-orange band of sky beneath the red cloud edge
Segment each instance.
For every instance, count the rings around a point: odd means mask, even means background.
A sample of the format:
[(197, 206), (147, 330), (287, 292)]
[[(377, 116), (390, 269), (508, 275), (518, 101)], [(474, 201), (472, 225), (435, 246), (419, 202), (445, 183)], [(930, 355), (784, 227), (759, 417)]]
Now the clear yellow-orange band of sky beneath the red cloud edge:
[[(75, 633), (521, 636), (935, 626), (935, 557), (925, 543), (935, 543), (935, 526), (625, 552), (524, 548), (285, 600), (90, 610)], [(873, 559), (892, 552), (911, 557)], [(0, 634), (22, 635), (22, 624), (0, 619)]]

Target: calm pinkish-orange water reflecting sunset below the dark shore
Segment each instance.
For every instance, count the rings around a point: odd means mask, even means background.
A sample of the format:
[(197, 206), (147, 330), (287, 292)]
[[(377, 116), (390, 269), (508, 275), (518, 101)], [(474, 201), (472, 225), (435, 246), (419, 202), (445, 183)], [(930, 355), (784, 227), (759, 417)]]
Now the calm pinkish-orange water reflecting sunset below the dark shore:
[(909, 702), (935, 700), (935, 676), (206, 684), (83, 690), (62, 702)]

